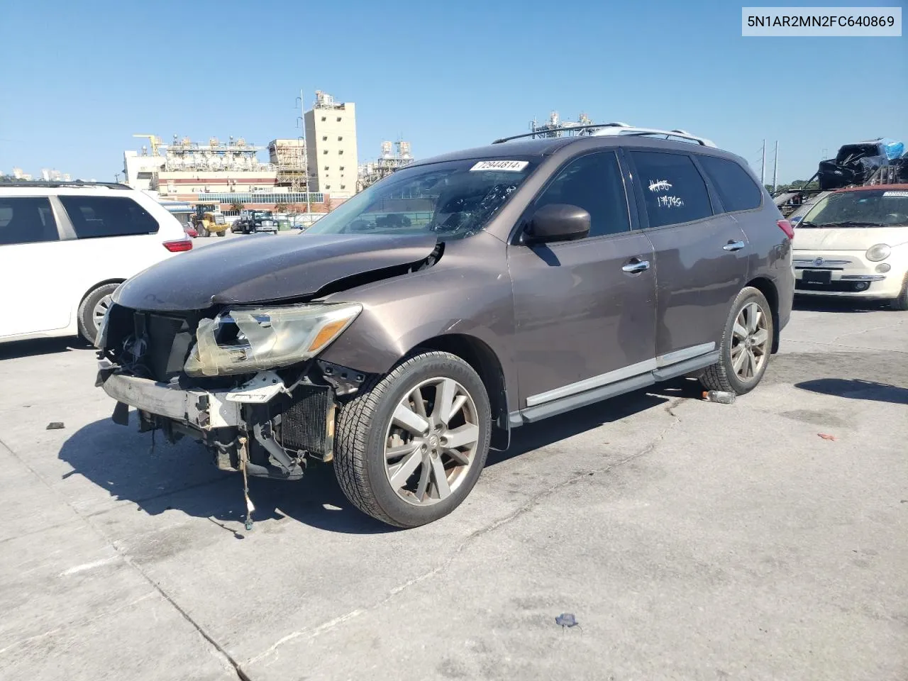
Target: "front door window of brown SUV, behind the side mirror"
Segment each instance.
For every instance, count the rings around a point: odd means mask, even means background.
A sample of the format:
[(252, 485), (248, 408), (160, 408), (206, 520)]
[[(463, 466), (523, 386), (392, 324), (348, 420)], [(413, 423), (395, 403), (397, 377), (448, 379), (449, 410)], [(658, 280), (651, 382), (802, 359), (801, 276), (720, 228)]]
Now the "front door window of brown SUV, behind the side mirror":
[(589, 236), (630, 231), (627, 197), (614, 152), (589, 153), (558, 173), (534, 204), (569, 203), (589, 213)]

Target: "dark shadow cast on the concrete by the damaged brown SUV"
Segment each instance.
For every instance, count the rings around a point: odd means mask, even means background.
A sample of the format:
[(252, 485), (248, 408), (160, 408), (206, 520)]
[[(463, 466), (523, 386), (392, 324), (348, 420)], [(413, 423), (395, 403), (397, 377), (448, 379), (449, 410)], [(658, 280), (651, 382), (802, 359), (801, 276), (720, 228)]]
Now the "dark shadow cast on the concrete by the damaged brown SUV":
[[(487, 465), (501, 464), (668, 400), (640, 391), (528, 424), (514, 430), (508, 451), (490, 452)], [(73, 469), (64, 477), (81, 475), (112, 498), (130, 501), (151, 516), (180, 510), (188, 516), (208, 518), (242, 539), (246, 513), (242, 476), (215, 469), (208, 452), (190, 439), (172, 445), (157, 433), (152, 448), (151, 434), (135, 430), (134, 412), (130, 421), (124, 428), (102, 419), (77, 430), (58, 454)], [(338, 486), (330, 465), (312, 464), (300, 481), (250, 479), (249, 492), (256, 523), (292, 518), (341, 534), (396, 531), (354, 507)]]

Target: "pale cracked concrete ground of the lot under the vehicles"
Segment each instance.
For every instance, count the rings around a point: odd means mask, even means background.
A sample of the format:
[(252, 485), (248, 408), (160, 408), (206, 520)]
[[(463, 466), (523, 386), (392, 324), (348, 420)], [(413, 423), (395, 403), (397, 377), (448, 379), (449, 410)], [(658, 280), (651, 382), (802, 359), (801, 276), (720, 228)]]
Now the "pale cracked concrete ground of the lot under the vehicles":
[(247, 532), (238, 476), (114, 425), (91, 350), (0, 346), (0, 678), (908, 678), (906, 320), (804, 304), (735, 404), (518, 429), (408, 531), (322, 468), (253, 480)]

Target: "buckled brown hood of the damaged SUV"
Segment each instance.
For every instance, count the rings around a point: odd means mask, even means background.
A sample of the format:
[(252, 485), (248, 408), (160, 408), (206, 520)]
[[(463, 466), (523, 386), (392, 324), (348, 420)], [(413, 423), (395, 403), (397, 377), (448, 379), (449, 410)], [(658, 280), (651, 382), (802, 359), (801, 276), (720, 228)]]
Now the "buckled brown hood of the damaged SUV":
[(114, 302), (186, 311), (301, 298), (333, 281), (424, 260), (436, 242), (431, 234), (249, 236), (159, 262), (125, 281)]

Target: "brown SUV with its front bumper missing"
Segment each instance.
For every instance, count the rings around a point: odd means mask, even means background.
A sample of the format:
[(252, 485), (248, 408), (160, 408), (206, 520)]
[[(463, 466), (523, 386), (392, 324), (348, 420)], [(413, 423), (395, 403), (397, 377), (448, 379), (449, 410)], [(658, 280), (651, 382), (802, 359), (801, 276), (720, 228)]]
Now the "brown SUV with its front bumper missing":
[(96, 342), (114, 420), (133, 406), (244, 475), (331, 462), (414, 527), (524, 423), (679, 376), (752, 390), (791, 310), (790, 226), (737, 156), (606, 132), (413, 163), (298, 236), (143, 271)]

